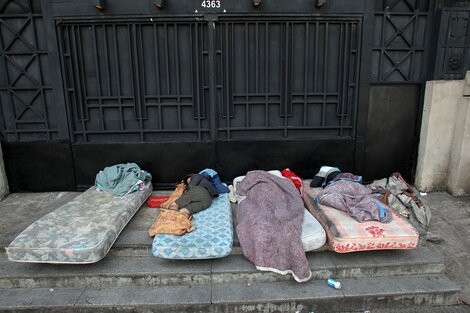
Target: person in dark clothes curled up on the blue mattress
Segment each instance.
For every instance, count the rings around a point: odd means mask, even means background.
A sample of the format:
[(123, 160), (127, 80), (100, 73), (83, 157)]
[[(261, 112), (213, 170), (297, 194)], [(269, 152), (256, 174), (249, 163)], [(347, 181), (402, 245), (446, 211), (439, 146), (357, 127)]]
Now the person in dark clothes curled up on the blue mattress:
[(183, 194), (170, 204), (170, 210), (179, 210), (186, 216), (191, 216), (197, 212), (207, 209), (212, 198), (219, 193), (214, 185), (201, 174), (189, 174), (183, 178), (185, 184)]

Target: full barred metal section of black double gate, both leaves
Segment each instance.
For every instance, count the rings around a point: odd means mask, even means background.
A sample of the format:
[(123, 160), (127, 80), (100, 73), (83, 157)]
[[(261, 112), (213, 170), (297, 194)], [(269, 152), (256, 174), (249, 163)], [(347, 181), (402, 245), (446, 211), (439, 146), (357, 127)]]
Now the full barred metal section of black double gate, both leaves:
[(354, 137), (359, 32), (351, 18), (63, 21), (72, 139)]

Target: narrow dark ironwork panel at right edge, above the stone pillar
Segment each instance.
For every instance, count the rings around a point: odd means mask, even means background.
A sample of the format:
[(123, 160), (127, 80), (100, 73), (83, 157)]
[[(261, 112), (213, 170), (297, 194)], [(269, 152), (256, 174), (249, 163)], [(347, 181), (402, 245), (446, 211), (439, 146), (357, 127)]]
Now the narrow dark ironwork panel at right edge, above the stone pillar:
[(435, 79), (463, 79), (470, 70), (470, 7), (444, 8)]

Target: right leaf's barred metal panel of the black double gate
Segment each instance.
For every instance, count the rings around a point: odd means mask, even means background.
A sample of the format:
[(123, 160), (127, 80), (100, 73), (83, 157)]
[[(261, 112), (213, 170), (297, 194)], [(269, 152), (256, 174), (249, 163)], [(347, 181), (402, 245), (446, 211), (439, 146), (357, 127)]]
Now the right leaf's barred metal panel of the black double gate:
[(353, 137), (360, 22), (217, 24), (218, 138)]

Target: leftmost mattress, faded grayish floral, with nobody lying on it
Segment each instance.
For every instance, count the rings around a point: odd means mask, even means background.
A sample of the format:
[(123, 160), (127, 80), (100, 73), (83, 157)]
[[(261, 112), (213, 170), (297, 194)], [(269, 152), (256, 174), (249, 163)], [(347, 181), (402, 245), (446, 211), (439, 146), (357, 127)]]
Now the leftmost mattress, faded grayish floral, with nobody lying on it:
[(86, 264), (101, 260), (122, 229), (150, 196), (142, 191), (115, 196), (92, 187), (19, 234), (6, 248), (16, 262)]

